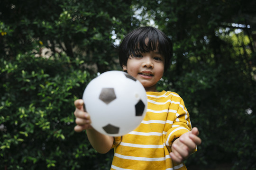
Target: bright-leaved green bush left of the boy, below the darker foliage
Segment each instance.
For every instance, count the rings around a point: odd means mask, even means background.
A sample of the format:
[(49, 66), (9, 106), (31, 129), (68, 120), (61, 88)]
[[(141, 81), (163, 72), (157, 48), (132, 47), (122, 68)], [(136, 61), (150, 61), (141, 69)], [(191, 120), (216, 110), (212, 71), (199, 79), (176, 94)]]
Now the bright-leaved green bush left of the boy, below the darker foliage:
[[(0, 169), (104, 169), (87, 136), (73, 131), (73, 102), (91, 77), (82, 60), (32, 52), (0, 59)], [(107, 168), (108, 169), (108, 168)]]

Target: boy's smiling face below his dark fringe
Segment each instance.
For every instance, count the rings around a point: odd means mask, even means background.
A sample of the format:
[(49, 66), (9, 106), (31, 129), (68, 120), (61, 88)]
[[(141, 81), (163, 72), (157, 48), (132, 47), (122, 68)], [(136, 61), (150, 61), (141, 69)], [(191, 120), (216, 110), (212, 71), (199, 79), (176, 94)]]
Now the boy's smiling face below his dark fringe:
[(123, 66), (129, 75), (135, 77), (148, 92), (156, 92), (156, 83), (162, 78), (165, 58), (158, 51), (129, 56), (127, 65)]

